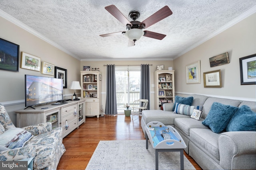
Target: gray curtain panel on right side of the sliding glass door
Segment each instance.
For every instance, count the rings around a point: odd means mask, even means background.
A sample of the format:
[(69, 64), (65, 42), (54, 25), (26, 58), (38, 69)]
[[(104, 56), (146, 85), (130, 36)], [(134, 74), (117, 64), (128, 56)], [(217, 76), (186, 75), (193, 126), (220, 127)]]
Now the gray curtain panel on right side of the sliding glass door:
[(150, 109), (150, 76), (149, 64), (140, 66), (140, 99), (148, 99), (148, 110)]

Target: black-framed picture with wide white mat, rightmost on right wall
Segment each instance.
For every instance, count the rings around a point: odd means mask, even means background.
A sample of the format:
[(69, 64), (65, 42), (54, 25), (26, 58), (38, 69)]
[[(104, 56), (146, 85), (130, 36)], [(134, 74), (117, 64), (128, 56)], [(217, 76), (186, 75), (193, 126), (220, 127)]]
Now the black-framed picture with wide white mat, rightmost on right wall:
[(256, 84), (256, 54), (239, 59), (241, 85)]

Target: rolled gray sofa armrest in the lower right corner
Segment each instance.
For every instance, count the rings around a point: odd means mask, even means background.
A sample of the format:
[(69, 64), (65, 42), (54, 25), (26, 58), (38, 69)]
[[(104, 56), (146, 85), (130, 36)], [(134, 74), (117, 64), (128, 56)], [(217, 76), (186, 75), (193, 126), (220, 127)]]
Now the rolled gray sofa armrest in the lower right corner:
[[(256, 166), (255, 131), (224, 132), (219, 135), (218, 144), (220, 153), (220, 166), (222, 166), (222, 168), (240, 169), (242, 167), (239, 168), (239, 166), (243, 166), (244, 164), (250, 164), (252, 168)], [(245, 156), (247, 157), (245, 158)]]

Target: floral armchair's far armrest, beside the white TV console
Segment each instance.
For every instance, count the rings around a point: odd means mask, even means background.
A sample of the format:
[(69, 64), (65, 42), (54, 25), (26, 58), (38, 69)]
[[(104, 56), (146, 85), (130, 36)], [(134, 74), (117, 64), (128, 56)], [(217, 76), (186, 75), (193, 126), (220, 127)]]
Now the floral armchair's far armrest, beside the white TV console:
[(32, 135), (40, 135), (42, 133), (52, 131), (52, 123), (50, 122), (40, 123), (37, 125), (22, 127), (22, 129), (29, 131), (30, 133), (32, 133)]

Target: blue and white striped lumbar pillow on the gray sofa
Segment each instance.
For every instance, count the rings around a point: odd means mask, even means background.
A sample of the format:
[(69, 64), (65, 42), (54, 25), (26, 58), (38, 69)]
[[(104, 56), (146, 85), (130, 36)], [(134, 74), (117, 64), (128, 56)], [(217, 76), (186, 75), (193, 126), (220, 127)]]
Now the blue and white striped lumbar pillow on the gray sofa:
[(191, 116), (194, 109), (202, 111), (203, 106), (189, 106), (186, 104), (176, 103), (173, 113)]

